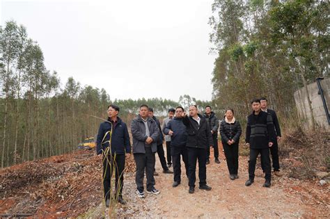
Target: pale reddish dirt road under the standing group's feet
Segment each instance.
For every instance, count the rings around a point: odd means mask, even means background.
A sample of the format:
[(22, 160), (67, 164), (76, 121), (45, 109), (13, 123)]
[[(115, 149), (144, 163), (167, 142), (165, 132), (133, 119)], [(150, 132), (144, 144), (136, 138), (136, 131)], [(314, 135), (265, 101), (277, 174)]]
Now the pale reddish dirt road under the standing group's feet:
[[(184, 170), (184, 165), (182, 166)], [(271, 188), (263, 188), (265, 181), (256, 177), (255, 183), (244, 186), (248, 177), (247, 157), (239, 158), (239, 179), (229, 179), (224, 156), (221, 164), (212, 159), (207, 165), (207, 184), (212, 190), (198, 189), (189, 194), (187, 177), (182, 173), (182, 183), (172, 187), (173, 175), (162, 173), (157, 158), (156, 188), (159, 195), (148, 194), (145, 199), (135, 195), (134, 174), (125, 176), (124, 197), (127, 205), (118, 204), (120, 217), (164, 218), (329, 218), (329, 186), (311, 186), (288, 177), (274, 177)], [(184, 171), (182, 171), (184, 172)], [(258, 170), (261, 173), (260, 169)], [(197, 175), (198, 176), (198, 175)], [(314, 187), (314, 188), (312, 188)], [(313, 190), (323, 193), (327, 200), (313, 195)], [(102, 211), (101, 211), (102, 212)], [(100, 216), (100, 215), (99, 215)]]

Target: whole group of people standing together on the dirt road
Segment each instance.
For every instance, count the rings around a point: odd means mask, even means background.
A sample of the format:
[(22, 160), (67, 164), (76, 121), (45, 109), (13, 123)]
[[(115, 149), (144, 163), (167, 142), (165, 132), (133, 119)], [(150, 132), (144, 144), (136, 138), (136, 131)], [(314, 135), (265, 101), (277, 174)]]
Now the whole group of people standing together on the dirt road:
[[(246, 125), (246, 145), (250, 147), (249, 179), (246, 186), (254, 181), (256, 160), (261, 155), (262, 170), (265, 172), (265, 184), (271, 185), (271, 165), (269, 148), (272, 153), (274, 173), (279, 174), (278, 145), (281, 138), (276, 113), (267, 109), (267, 99), (253, 99), (251, 102), (253, 112), (249, 115)], [(119, 107), (110, 105), (107, 110), (108, 120), (100, 124), (97, 134), (97, 154), (103, 155), (103, 184), (104, 200), (109, 206), (111, 196), (111, 175), (116, 170), (115, 190), (116, 200), (125, 204), (123, 200), (123, 171), (125, 169), (125, 156), (130, 156), (131, 145), (127, 125), (118, 117)], [(220, 129), (219, 129), (220, 127)], [(181, 183), (181, 157), (185, 166), (185, 174), (189, 180), (189, 193), (194, 193), (196, 182), (196, 164), (198, 162), (198, 188), (211, 190), (206, 182), (206, 165), (210, 163), (210, 147), (214, 149), (214, 162), (219, 161), (218, 131), (220, 132), (223, 151), (232, 180), (238, 178), (238, 149), (242, 128), (235, 119), (231, 108), (220, 122), (212, 112), (211, 106), (205, 107), (205, 113), (198, 113), (196, 105), (189, 106), (189, 113), (178, 106), (168, 110), (168, 117), (163, 121), (153, 115), (152, 108), (147, 105), (139, 107), (137, 115), (131, 123), (133, 138), (133, 154), (136, 163), (136, 195), (146, 197), (143, 179), (146, 172), (146, 193), (158, 195), (155, 188), (155, 153), (159, 156), (163, 172), (173, 174), (173, 187)], [(165, 136), (163, 136), (163, 133)], [(163, 141), (166, 141), (166, 157)], [(173, 165), (173, 172), (169, 170)]]

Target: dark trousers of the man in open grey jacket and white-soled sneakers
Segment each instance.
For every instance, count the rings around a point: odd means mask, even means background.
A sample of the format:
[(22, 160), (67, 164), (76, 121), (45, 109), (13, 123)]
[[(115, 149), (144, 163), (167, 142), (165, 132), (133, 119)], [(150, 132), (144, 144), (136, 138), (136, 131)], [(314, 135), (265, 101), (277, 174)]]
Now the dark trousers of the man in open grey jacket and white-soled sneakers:
[(134, 154), (134, 160), (136, 164), (135, 182), (136, 188), (140, 191), (144, 190), (143, 179), (144, 171), (147, 175), (147, 190), (152, 190), (155, 186), (154, 170), (155, 170), (155, 153), (151, 152), (150, 147), (146, 147), (146, 154), (138, 153)]

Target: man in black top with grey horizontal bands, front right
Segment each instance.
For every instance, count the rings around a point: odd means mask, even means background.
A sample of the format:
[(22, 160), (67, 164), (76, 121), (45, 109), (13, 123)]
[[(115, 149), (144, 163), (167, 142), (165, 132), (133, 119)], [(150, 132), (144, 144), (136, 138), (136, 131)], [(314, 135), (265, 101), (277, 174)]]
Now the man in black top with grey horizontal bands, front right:
[(270, 187), (272, 175), (269, 147), (272, 147), (275, 138), (272, 116), (261, 111), (260, 99), (253, 99), (251, 105), (253, 112), (247, 118), (245, 137), (246, 145), (250, 147), (249, 179), (245, 182), (245, 186), (251, 186), (251, 184), (253, 184), (256, 161), (258, 155), (261, 154), (261, 161), (265, 168), (266, 179), (263, 186)]

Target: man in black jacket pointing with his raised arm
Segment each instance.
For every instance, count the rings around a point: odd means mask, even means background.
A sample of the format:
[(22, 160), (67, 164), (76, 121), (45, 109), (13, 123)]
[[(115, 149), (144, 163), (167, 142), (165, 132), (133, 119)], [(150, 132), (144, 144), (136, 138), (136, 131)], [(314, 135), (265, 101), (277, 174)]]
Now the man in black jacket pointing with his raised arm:
[[(189, 163), (189, 193), (195, 192), (196, 162), (198, 159), (199, 188), (211, 190), (206, 184), (206, 147), (212, 147), (210, 127), (205, 117), (198, 114), (196, 105), (189, 106), (189, 116), (182, 113), (182, 122), (187, 128), (187, 149)], [(209, 145), (207, 145), (209, 144)]]

